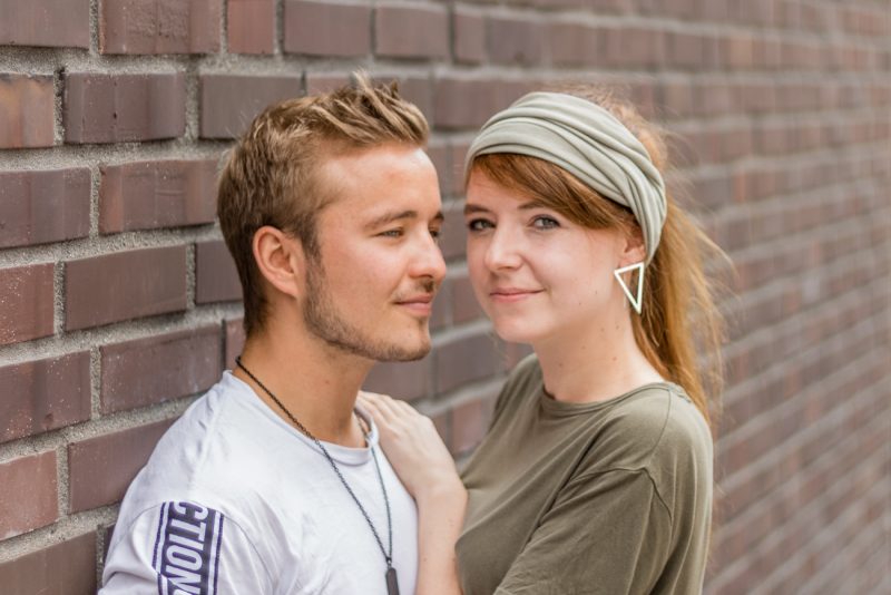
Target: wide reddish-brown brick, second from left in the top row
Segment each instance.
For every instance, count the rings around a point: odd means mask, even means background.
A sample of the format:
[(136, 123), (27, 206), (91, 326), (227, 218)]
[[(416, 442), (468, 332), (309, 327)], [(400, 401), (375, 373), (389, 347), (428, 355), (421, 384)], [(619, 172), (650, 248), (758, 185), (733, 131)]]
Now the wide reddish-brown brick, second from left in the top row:
[(105, 0), (99, 2), (99, 51), (218, 51), (222, 8), (222, 0)]

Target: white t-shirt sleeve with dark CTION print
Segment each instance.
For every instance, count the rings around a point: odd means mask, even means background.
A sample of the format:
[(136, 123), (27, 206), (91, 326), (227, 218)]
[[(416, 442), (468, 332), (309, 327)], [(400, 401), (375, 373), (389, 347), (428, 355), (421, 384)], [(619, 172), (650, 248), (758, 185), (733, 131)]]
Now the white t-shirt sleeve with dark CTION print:
[(213, 508), (163, 503), (115, 530), (100, 595), (273, 593), (254, 545)]

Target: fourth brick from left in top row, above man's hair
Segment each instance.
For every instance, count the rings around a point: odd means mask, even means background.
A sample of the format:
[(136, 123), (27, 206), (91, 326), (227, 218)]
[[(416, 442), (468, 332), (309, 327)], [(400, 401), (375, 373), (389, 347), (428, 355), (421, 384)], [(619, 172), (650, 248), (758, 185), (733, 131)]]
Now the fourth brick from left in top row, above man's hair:
[(312, 56), (365, 56), (371, 51), (371, 7), (287, 0), (284, 50)]

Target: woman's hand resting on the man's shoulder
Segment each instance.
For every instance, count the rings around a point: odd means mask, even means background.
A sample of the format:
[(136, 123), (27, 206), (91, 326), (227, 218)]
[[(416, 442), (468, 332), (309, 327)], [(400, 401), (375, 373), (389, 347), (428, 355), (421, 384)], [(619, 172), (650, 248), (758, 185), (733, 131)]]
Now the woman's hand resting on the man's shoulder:
[(454, 460), (430, 418), (385, 394), (360, 392), (356, 403), (374, 418), (381, 447), (415, 500), (464, 492)]

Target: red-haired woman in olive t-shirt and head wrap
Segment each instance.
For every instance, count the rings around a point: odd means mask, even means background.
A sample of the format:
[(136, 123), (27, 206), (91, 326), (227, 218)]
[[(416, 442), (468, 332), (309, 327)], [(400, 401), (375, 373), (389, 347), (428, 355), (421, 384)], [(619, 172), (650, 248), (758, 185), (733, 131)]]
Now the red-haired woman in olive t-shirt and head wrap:
[(461, 475), (467, 500), (429, 421), (362, 402), (418, 497), (419, 593), (702, 591), (722, 328), (702, 261), (719, 251), (666, 167), (655, 126), (588, 91), (527, 95), (471, 145), (470, 279), (499, 336), (535, 354)]

